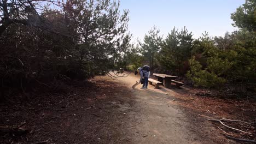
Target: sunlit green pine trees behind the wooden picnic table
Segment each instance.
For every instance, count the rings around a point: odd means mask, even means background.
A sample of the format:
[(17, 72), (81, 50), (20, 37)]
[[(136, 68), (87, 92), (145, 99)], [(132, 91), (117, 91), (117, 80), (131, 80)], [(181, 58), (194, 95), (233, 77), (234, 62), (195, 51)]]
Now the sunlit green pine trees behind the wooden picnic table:
[[(196, 87), (217, 88), (235, 85), (240, 91), (255, 91), (256, 82), (256, 2), (247, 1), (231, 14), (235, 32), (224, 37), (199, 39), (186, 27), (173, 28), (162, 37), (153, 27), (144, 40), (133, 46), (123, 59), (124, 67), (136, 69), (147, 63), (154, 72), (183, 77)], [(237, 89), (233, 87), (234, 89)], [(253, 90), (254, 89), (254, 90)]]

